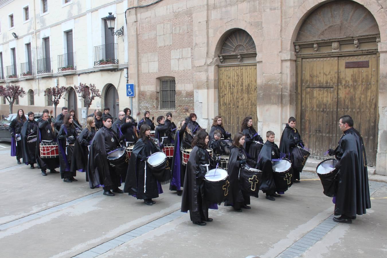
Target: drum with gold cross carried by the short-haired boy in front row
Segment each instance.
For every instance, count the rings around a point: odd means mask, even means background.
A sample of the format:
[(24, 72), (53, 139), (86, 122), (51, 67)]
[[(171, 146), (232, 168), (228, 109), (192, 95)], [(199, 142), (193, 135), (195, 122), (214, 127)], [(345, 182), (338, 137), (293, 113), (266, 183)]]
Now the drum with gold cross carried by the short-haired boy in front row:
[(273, 178), (276, 184), (276, 191), (284, 192), (288, 190), (292, 182), (291, 162), (288, 159), (280, 159), (274, 161), (273, 164)]

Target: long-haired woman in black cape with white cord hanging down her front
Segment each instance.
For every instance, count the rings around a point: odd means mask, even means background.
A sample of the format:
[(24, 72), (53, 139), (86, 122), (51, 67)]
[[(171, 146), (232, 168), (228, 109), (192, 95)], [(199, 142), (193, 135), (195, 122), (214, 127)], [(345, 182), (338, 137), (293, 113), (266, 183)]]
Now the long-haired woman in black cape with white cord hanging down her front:
[(153, 205), (156, 202), (152, 198), (158, 198), (159, 193), (163, 193), (161, 185), (152, 174), (152, 170), (147, 164), (148, 157), (161, 150), (149, 138), (151, 127), (142, 125), (140, 128), (139, 140), (134, 145), (128, 171), (125, 180), (124, 192), (144, 200), (146, 205)]

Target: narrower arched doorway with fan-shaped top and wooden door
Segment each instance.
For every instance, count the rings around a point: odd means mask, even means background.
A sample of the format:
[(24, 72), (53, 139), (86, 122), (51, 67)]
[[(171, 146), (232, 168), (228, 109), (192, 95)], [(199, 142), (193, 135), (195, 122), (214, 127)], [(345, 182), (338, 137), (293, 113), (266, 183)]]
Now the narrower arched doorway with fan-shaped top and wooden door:
[(224, 128), (235, 135), (245, 116), (257, 123), (257, 50), (243, 29), (228, 32), (219, 50), (219, 115)]

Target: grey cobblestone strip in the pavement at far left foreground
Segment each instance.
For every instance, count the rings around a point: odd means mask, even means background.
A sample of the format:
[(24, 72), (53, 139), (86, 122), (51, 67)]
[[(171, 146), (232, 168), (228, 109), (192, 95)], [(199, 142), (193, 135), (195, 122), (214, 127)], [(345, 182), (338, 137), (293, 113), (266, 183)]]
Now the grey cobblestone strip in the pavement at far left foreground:
[(62, 203), (60, 205), (48, 208), (46, 210), (42, 210), (40, 212), (36, 212), (34, 214), (27, 215), (26, 217), (22, 217), (20, 219), (12, 220), (10, 222), (1, 224), (0, 225), (0, 231), (5, 230), (5, 229), (9, 229), (10, 227), (14, 227), (14, 226), (20, 225), (20, 224), (22, 224), (24, 222), (27, 222), (27, 221), (30, 221), (30, 220), (33, 220), (33, 219), (38, 219), (38, 218), (40, 218), (40, 217), (42, 217), (44, 215), (48, 215), (50, 213), (56, 212), (57, 210), (61, 210), (63, 208), (67, 208), (67, 207), (69, 207), (71, 205), (75, 205), (75, 204), (78, 204), (80, 202), (84, 202), (84, 201), (89, 200), (91, 198), (94, 198), (96, 196), (102, 195), (102, 193), (103, 193), (103, 191), (101, 190), (101, 191), (98, 191), (96, 193), (92, 193), (90, 195), (86, 195), (86, 196), (80, 197), (78, 199), (72, 200), (70, 202), (65, 202), (65, 203)]

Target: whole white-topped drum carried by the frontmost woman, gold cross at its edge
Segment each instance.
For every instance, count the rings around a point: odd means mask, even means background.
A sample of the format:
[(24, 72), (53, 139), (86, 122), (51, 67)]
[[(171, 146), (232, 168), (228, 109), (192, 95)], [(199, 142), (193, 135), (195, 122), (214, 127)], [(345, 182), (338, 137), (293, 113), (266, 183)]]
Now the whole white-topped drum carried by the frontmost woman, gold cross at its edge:
[(205, 173), (204, 194), (209, 203), (221, 203), (228, 194), (230, 182), (227, 171), (221, 168)]

